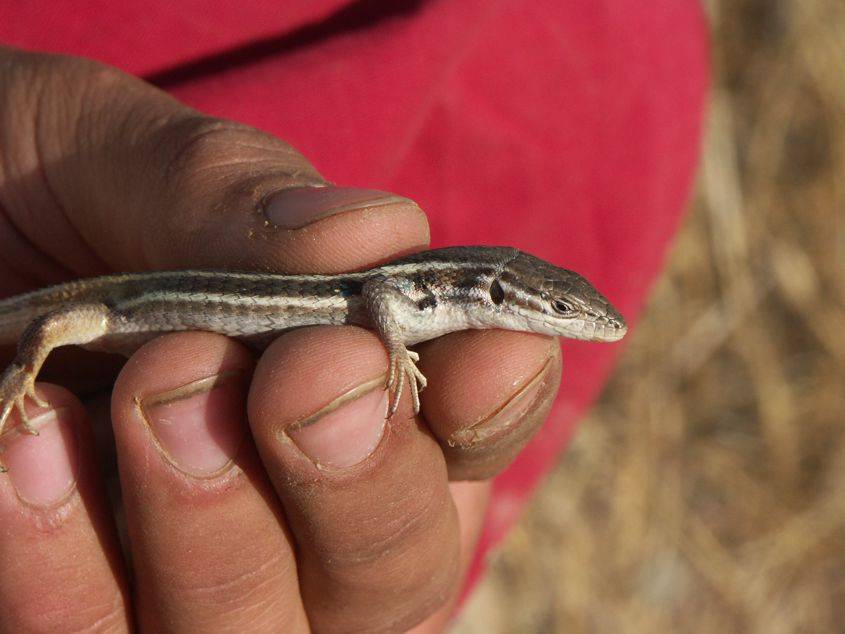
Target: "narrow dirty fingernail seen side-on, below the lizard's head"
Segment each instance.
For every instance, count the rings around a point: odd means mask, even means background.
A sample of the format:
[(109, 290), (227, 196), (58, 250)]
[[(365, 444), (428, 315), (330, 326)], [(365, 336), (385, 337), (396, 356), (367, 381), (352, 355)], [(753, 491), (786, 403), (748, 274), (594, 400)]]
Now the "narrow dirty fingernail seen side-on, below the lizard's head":
[(557, 393), (556, 382), (551, 380), (557, 371), (554, 367), (557, 357), (546, 359), (525, 384), (506, 402), (472, 425), (453, 433), (448, 443), (455, 447), (468, 447), (493, 436), (523, 420), (547, 399)]

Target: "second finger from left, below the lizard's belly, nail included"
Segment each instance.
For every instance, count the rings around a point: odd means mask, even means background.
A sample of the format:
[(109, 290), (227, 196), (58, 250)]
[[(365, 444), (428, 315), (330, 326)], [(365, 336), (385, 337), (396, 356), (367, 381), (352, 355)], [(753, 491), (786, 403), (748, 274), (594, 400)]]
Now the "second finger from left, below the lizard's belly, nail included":
[(150, 631), (306, 631), (296, 560), (250, 442), (252, 357), (211, 333), (156, 339), (112, 397), (120, 480)]

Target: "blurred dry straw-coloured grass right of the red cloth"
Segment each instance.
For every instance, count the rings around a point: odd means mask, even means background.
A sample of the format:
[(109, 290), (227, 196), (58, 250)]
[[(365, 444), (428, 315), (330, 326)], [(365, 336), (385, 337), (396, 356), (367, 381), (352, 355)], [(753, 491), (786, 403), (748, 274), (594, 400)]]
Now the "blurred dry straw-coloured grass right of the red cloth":
[(845, 2), (707, 10), (684, 228), (457, 632), (845, 628)]

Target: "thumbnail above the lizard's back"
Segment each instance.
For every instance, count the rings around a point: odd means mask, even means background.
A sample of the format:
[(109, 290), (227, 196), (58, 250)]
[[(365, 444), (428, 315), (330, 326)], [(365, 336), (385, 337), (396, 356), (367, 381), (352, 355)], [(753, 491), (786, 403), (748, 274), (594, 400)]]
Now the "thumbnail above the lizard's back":
[(300, 229), (334, 214), (395, 203), (415, 204), (408, 198), (375, 189), (293, 187), (273, 194), (265, 205), (264, 214), (278, 227)]

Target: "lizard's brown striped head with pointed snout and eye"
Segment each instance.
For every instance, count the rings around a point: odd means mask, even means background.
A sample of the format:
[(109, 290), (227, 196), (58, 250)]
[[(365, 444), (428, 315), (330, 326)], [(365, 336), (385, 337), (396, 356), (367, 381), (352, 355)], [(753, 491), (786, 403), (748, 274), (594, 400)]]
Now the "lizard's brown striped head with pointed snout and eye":
[(622, 315), (584, 277), (527, 253), (505, 264), (490, 298), (540, 334), (618, 341), (628, 330)]

